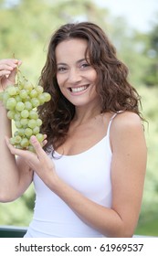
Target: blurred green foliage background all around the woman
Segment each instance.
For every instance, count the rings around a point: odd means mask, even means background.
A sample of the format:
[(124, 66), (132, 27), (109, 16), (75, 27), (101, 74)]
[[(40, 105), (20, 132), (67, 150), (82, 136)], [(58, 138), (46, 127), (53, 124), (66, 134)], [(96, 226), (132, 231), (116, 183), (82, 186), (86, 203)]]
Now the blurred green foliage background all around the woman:
[[(158, 17), (158, 10), (155, 16)], [(158, 236), (158, 23), (155, 22), (149, 32), (141, 33), (92, 0), (0, 0), (0, 20), (0, 59), (22, 59), (21, 71), (33, 83), (37, 83), (46, 60), (47, 43), (58, 26), (89, 20), (111, 37), (120, 59), (130, 69), (133, 86), (142, 95), (142, 114), (148, 122), (144, 123), (147, 172), (135, 233)], [(15, 202), (0, 203), (0, 225), (27, 226), (32, 218), (34, 199), (31, 186)]]

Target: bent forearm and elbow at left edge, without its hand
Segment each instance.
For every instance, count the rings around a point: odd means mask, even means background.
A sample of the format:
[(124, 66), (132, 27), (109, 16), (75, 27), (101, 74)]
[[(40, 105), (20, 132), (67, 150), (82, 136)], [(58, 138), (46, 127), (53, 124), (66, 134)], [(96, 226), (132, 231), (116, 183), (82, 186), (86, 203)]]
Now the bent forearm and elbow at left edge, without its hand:
[(12, 155), (5, 144), (11, 137), (11, 123), (0, 101), (0, 201), (8, 202), (20, 197), (32, 181), (32, 172), (23, 159)]

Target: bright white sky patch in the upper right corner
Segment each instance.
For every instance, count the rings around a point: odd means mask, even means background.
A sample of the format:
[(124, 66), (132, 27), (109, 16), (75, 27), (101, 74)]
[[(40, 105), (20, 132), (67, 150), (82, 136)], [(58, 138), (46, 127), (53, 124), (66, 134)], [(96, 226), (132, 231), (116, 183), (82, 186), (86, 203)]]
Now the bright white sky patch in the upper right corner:
[[(112, 16), (125, 16), (128, 23), (141, 31), (150, 29), (158, 14), (158, 0), (94, 0), (107, 7)], [(153, 18), (154, 17), (154, 18)]]

